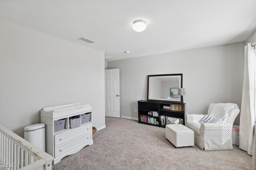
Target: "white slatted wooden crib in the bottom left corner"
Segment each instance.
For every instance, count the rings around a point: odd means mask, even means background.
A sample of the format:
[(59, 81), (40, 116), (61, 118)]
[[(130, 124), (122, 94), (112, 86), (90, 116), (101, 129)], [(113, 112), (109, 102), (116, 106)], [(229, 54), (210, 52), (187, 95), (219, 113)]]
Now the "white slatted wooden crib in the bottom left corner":
[(10, 170), (51, 170), (53, 157), (0, 125), (0, 160)]

